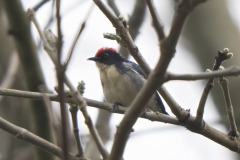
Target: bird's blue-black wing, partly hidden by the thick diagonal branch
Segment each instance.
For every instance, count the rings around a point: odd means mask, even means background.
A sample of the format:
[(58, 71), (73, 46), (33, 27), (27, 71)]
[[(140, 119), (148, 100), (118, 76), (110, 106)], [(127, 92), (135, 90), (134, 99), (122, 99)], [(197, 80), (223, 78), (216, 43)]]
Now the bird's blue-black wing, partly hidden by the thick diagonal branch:
[[(145, 75), (145, 73), (143, 72), (143, 70), (141, 69), (141, 67), (140, 67), (138, 64), (136, 64), (136, 63), (134, 63), (134, 62), (132, 62), (132, 61), (128, 61), (128, 62), (132, 64), (132, 67), (133, 67), (133, 69), (134, 69), (136, 72), (138, 72), (140, 75), (142, 75), (145, 79), (147, 78), (147, 76)], [(157, 91), (155, 92), (155, 99), (156, 99), (156, 101), (157, 101), (157, 103), (158, 103), (158, 105), (159, 105), (162, 113), (163, 113), (163, 114), (168, 114), (168, 113), (165, 111), (165, 106), (164, 106), (164, 104), (163, 104), (163, 102), (162, 102), (162, 99), (160, 98), (160, 96), (159, 96), (159, 94), (158, 94)]]

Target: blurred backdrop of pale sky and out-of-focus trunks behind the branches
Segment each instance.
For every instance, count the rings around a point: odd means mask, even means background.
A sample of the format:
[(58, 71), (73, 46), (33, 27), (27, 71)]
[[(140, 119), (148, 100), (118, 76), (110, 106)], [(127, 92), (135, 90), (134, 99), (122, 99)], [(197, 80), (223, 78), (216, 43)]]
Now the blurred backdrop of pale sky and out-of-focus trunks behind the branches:
[[(39, 92), (39, 85), (55, 93), (57, 84), (55, 68), (43, 50), (40, 37), (33, 24), (17, 18), (19, 13), (36, 6), (40, 0), (0, 0), (0, 87)], [(171, 26), (174, 14), (174, 0), (155, 0), (159, 16), (164, 24), (165, 33)], [(143, 0), (108, 0), (105, 4), (116, 15), (124, 14), (130, 26), (130, 33), (140, 52), (153, 68), (160, 56), (155, 31), (151, 25), (151, 16)], [(112, 7), (115, 3), (116, 8)], [(85, 20), (93, 1), (62, 0), (63, 59), (67, 57), (73, 39)], [(230, 49), (234, 58), (223, 63), (224, 67), (240, 65), (240, 1), (211, 0), (200, 4), (188, 16), (183, 28), (177, 52), (168, 71), (173, 73), (197, 73), (211, 69), (218, 49)], [(55, 1), (48, 1), (36, 12), (41, 27), (49, 28), (56, 34)], [(25, 18), (25, 19), (24, 19)], [(25, 29), (23, 29), (25, 28)], [(19, 34), (16, 31), (23, 31)], [(29, 32), (30, 30), (30, 32)], [(67, 69), (67, 75), (77, 86), (83, 80), (86, 83), (84, 97), (102, 101), (104, 99), (98, 70), (94, 63), (86, 59), (92, 57), (101, 47), (113, 47), (130, 60), (127, 50), (115, 41), (103, 38), (103, 33), (115, 33), (115, 29), (103, 13), (94, 6), (86, 27), (80, 36), (73, 57)], [(16, 39), (13, 38), (17, 37)], [(26, 40), (28, 39), (28, 40)], [(30, 39), (30, 40), (29, 40)], [(25, 46), (24, 46), (25, 45)], [(9, 78), (10, 76), (10, 78)], [(6, 78), (8, 77), (8, 78)], [(229, 77), (230, 94), (235, 118), (240, 128), (239, 77)], [(196, 109), (205, 81), (171, 81), (164, 84), (175, 100), (192, 115)], [(167, 112), (171, 114), (166, 105)], [(110, 151), (116, 126), (122, 115), (110, 114), (93, 107), (87, 108), (96, 123), (106, 147)], [(59, 104), (47, 107), (42, 101), (33, 101), (14, 97), (0, 97), (0, 116), (24, 127), (29, 131), (51, 141), (60, 143)], [(172, 114), (171, 114), (172, 115)], [(82, 114), (79, 113), (80, 136), (83, 140), (86, 156), (99, 159), (99, 153), (89, 135)], [(217, 81), (209, 96), (204, 120), (214, 128), (228, 133), (224, 97)], [(70, 152), (76, 154), (76, 143), (69, 127)], [(139, 119), (127, 143), (124, 158), (126, 160), (202, 160), (202, 159), (240, 159), (237, 153), (192, 132), (183, 127)], [(37, 149), (35, 146), (14, 138), (0, 130), (0, 160), (56, 159), (56, 157)]]

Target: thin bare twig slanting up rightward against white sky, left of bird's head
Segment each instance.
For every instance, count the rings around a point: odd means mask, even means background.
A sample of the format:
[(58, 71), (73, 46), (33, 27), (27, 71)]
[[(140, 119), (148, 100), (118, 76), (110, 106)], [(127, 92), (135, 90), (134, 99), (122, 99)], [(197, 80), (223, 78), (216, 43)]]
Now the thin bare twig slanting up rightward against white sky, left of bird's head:
[(87, 22), (87, 20), (88, 20), (88, 17), (89, 17), (90, 14), (92, 13), (93, 7), (94, 7), (94, 5), (91, 5), (91, 7), (90, 7), (90, 9), (88, 10), (88, 13), (87, 13), (87, 15), (86, 15), (83, 23), (81, 24), (81, 26), (80, 26), (80, 28), (79, 28), (79, 30), (78, 30), (78, 33), (77, 33), (76, 37), (74, 38), (73, 44), (71, 45), (71, 48), (70, 48), (70, 50), (69, 50), (69, 52), (68, 52), (67, 60), (66, 60), (66, 62), (64, 63), (65, 67), (67, 67), (68, 64), (69, 64), (69, 61), (70, 61), (70, 59), (71, 59), (71, 57), (72, 57), (72, 54), (73, 54), (73, 50), (74, 50), (74, 48), (75, 48), (75, 46), (76, 46), (76, 44), (77, 44), (77, 41), (78, 41), (80, 35), (82, 34), (82, 32), (83, 32), (83, 30), (84, 30), (84, 28), (85, 28), (85, 25), (86, 25), (86, 22)]

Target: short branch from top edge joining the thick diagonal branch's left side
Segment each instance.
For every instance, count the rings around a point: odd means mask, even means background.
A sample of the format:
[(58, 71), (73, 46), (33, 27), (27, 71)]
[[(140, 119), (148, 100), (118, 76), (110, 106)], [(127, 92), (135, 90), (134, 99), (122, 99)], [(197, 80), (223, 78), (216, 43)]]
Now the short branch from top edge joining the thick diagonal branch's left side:
[(148, 5), (148, 8), (149, 8), (149, 11), (151, 13), (151, 16), (152, 16), (152, 24), (157, 32), (157, 35), (158, 35), (158, 41), (160, 42), (161, 40), (163, 40), (166, 35), (164, 33), (164, 26), (162, 24), (162, 22), (160, 21), (160, 18), (157, 14), (157, 9), (153, 3), (152, 0), (146, 0), (147, 1), (147, 5)]

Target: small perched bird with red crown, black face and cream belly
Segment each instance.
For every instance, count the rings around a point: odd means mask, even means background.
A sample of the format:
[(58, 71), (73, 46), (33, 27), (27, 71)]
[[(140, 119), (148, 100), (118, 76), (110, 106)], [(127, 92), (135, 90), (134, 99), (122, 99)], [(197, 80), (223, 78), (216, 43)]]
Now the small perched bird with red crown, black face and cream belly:
[[(87, 60), (96, 63), (103, 93), (109, 103), (130, 106), (147, 81), (140, 66), (122, 57), (114, 48), (100, 48), (94, 57)], [(149, 110), (168, 115), (157, 91), (147, 104), (146, 111)]]

